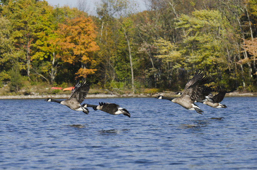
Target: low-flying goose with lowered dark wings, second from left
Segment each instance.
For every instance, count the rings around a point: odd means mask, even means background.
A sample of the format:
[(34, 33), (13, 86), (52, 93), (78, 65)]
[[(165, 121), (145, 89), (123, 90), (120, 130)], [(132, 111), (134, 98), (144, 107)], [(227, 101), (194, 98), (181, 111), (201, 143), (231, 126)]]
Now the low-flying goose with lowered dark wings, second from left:
[(106, 113), (110, 113), (112, 115), (119, 115), (123, 114), (125, 116), (130, 117), (130, 113), (128, 110), (121, 108), (119, 105), (116, 105), (115, 103), (103, 103), (99, 102), (99, 105), (88, 105), (83, 104), (83, 107), (93, 107), (94, 110), (102, 110)]

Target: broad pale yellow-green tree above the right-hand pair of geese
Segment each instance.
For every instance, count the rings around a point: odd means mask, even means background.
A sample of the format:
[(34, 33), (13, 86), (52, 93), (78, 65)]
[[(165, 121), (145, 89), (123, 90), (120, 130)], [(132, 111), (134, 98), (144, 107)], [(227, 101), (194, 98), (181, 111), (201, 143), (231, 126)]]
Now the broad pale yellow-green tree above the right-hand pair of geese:
[(186, 69), (200, 68), (208, 72), (211, 81), (222, 85), (222, 75), (228, 69), (226, 21), (217, 10), (196, 10), (192, 16), (181, 15), (177, 29), (185, 30), (180, 52)]

